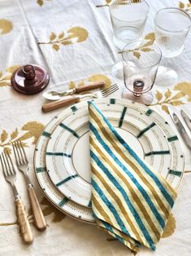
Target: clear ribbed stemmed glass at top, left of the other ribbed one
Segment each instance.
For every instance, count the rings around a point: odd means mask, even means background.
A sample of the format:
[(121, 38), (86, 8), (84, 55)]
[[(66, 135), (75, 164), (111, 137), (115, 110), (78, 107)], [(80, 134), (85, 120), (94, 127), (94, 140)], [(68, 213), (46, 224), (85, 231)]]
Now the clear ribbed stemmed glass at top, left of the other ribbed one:
[[(109, 7), (114, 30), (114, 44), (120, 51), (128, 42), (141, 41), (149, 5), (145, 0), (115, 0)], [(111, 74), (123, 81), (123, 62), (118, 62), (111, 69)]]

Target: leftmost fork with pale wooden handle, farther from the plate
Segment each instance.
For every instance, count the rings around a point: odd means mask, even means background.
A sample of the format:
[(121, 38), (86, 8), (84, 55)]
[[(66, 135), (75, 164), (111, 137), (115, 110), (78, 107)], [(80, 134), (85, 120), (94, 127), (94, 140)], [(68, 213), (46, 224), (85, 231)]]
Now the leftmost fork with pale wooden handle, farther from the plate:
[(2, 152), (0, 154), (0, 161), (2, 164), (2, 172), (4, 174), (4, 177), (8, 183), (11, 183), (11, 187), (13, 189), (13, 194), (15, 197), (16, 215), (18, 224), (20, 225), (20, 235), (25, 243), (31, 244), (33, 242), (33, 233), (28, 222), (27, 214), (24, 210), (24, 203), (21, 200), (19, 192), (15, 187), (16, 172), (9, 153)]

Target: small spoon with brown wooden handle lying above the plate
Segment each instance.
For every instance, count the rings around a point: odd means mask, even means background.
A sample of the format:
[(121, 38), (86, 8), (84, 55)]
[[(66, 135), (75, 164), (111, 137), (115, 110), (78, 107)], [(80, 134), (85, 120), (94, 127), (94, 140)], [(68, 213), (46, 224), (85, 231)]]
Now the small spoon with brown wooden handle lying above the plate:
[(100, 82), (91, 82), (84, 86), (79, 86), (77, 88), (65, 90), (63, 92), (59, 92), (57, 90), (47, 90), (45, 93), (43, 93), (43, 97), (45, 99), (49, 99), (49, 100), (59, 100), (65, 95), (74, 95), (74, 94), (78, 94), (83, 91), (102, 88), (103, 86), (105, 86), (105, 82), (100, 81)]

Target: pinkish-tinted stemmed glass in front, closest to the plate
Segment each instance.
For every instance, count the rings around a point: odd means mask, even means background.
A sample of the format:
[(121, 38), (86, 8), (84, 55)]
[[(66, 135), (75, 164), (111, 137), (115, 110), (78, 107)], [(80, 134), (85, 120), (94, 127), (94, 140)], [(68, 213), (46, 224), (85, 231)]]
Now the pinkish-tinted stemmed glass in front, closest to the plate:
[(126, 87), (122, 98), (131, 99), (141, 104), (151, 104), (153, 95), (150, 90), (154, 86), (162, 58), (160, 49), (156, 45), (144, 46), (142, 42), (139, 42), (138, 47), (129, 43), (124, 47), (122, 57)]

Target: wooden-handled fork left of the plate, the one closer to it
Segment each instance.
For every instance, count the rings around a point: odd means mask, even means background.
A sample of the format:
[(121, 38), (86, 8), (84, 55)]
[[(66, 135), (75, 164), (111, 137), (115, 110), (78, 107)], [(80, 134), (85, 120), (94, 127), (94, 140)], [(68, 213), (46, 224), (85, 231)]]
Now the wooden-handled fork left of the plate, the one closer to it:
[(41, 211), (41, 206), (37, 200), (37, 195), (34, 191), (33, 184), (28, 176), (29, 163), (24, 147), (20, 141), (12, 143), (13, 152), (15, 155), (15, 162), (17, 168), (24, 174), (28, 188), (28, 196), (33, 210), (33, 217), (38, 230), (43, 231), (46, 229), (46, 220)]

